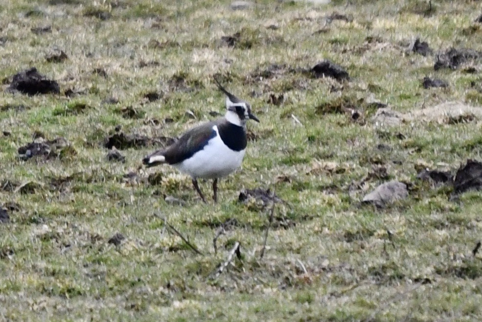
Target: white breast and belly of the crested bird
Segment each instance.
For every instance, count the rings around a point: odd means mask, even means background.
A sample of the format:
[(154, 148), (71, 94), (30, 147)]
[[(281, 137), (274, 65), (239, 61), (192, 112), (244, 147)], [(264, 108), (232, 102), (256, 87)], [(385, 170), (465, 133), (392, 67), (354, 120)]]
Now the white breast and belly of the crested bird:
[(219, 136), (218, 127), (214, 125), (212, 129), (216, 131), (216, 137), (212, 138), (203, 150), (173, 166), (192, 178), (205, 179), (221, 178), (239, 168), (246, 149), (231, 150)]

